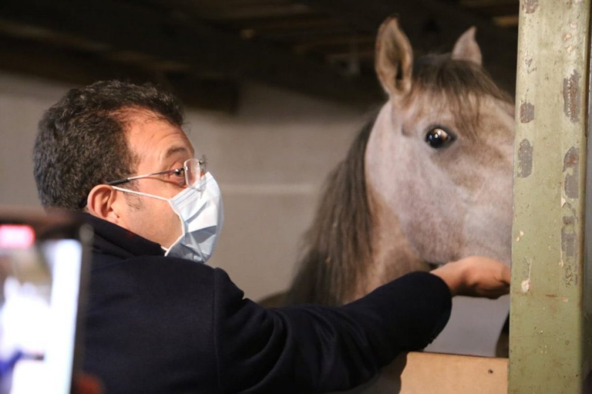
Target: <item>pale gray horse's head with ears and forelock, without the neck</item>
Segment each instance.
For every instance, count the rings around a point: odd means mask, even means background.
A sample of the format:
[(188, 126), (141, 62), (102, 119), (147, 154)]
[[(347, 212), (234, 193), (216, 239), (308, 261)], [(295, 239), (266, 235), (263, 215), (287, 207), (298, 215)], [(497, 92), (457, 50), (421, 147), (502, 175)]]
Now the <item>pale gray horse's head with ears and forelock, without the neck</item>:
[(396, 217), (427, 262), (475, 254), (510, 262), (514, 106), (481, 69), (474, 34), (451, 54), (414, 63), (397, 19), (378, 33), (389, 100), (365, 156), (375, 231), (388, 242), (389, 225), (379, 223)]

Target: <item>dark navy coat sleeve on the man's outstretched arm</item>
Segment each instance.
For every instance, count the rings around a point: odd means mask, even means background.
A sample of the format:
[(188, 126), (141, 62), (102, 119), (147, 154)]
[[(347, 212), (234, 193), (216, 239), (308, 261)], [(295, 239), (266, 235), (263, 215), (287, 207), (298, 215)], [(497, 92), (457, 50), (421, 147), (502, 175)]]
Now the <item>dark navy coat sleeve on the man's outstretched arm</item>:
[(315, 393), (370, 379), (398, 353), (427, 346), (451, 311), (435, 275), (402, 276), (343, 307), (265, 309), (216, 270), (214, 333), (223, 393)]

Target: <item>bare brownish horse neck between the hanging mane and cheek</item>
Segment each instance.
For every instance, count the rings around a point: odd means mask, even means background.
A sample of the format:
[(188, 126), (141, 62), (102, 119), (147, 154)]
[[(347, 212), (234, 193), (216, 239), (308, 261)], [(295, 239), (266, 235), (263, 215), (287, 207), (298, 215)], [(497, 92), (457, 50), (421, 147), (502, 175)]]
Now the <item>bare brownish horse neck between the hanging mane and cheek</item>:
[(372, 256), (364, 264), (363, 277), (356, 281), (355, 289), (344, 302), (363, 297), (408, 272), (429, 270), (429, 264), (419, 258), (404, 235), (394, 211), (374, 193), (371, 185), (366, 187), (372, 214)]

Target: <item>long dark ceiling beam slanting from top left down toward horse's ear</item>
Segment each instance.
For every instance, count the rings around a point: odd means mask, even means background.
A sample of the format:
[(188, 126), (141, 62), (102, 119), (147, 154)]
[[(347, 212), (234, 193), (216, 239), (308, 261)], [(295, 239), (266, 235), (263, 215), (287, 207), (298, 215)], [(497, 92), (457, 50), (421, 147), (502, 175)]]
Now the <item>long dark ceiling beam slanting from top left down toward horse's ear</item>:
[(122, 1), (4, 0), (0, 18), (42, 27), (163, 61), (187, 64), (190, 76), (250, 79), (353, 105), (382, 100), (374, 78), (348, 78), (323, 64), (271, 45), (240, 40), (184, 15)]

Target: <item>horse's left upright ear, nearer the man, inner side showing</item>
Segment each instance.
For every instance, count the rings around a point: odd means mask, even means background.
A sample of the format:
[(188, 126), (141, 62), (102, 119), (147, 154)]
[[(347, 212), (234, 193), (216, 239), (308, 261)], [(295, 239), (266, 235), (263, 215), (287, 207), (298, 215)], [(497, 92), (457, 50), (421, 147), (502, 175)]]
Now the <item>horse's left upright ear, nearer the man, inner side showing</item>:
[(382, 23), (376, 40), (375, 67), (388, 95), (401, 95), (411, 89), (413, 50), (397, 18)]

